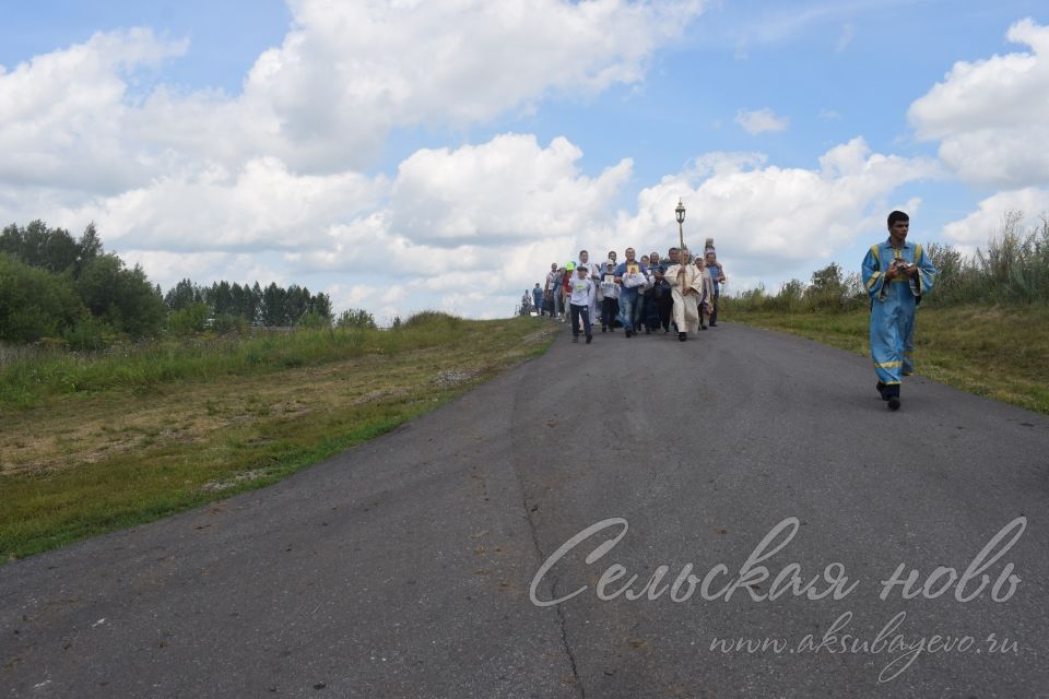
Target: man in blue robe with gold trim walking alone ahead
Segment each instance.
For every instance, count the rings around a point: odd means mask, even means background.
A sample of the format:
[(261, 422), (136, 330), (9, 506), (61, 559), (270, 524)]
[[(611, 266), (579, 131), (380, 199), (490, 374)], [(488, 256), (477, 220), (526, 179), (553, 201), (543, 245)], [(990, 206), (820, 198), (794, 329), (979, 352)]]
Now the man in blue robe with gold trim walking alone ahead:
[(907, 242), (910, 217), (888, 214), (888, 240), (863, 258), (863, 285), (871, 297), (871, 357), (877, 391), (889, 410), (899, 407), (903, 377), (915, 372), (915, 308), (932, 291), (936, 268), (921, 246)]

